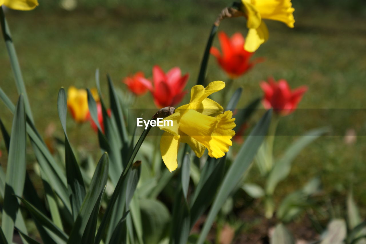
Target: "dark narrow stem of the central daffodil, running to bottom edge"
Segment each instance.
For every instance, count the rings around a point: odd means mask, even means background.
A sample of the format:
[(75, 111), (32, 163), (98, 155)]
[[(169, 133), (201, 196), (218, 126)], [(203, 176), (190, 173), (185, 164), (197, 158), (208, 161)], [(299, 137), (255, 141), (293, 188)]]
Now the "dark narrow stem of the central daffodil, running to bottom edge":
[(98, 233), (96, 236), (96, 240), (95, 240), (96, 244), (100, 243), (100, 241), (102, 240), (102, 236), (104, 235), (105, 231), (107, 230), (109, 220), (111, 219), (114, 204), (116, 203), (119, 194), (122, 192), (123, 182), (125, 181), (127, 173), (131, 169), (132, 162), (135, 159), (135, 156), (136, 156), (138, 150), (140, 149), (143, 141), (145, 140), (147, 134), (149, 133), (150, 129), (151, 129), (151, 126), (147, 127), (147, 129), (143, 131), (143, 133), (141, 134), (139, 140), (137, 141), (134, 149), (132, 150), (130, 159), (128, 160), (128, 164), (127, 164), (126, 168), (123, 170), (123, 172), (117, 182), (117, 185), (112, 194), (111, 200), (109, 200), (107, 210), (105, 211), (105, 214), (102, 218), (102, 222), (100, 223)]

